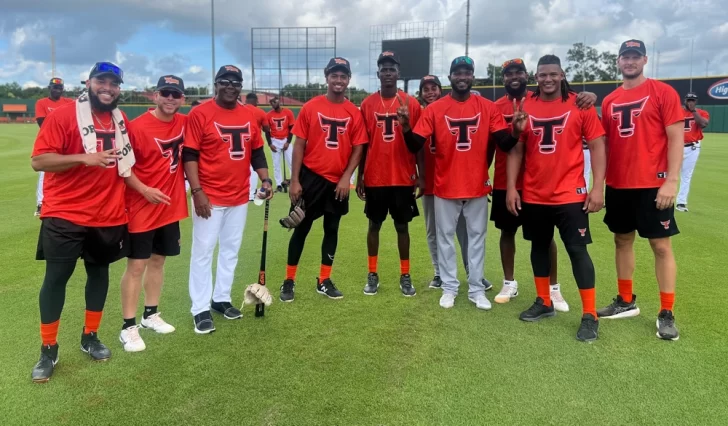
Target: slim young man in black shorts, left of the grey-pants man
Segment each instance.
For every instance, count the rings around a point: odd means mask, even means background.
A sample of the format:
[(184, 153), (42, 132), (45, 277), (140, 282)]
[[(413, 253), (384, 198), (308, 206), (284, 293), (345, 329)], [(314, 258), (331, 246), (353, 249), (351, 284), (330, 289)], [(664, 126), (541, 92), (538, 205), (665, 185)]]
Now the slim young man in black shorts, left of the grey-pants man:
[[(379, 231), (389, 214), (397, 231), (399, 249), (399, 288), (407, 297), (417, 294), (412, 285), (409, 264), (409, 223), (419, 216), (415, 200), (417, 178), (415, 154), (404, 142), (403, 132), (417, 124), (421, 107), (417, 101), (397, 89), (399, 59), (396, 53), (382, 52), (377, 59), (379, 91), (368, 96), (361, 104), (369, 144), (364, 146), (356, 192), (366, 202), (364, 213), (369, 219), (367, 251), (369, 274), (364, 294), (375, 295), (379, 289), (377, 260), (379, 257)], [(409, 123), (405, 127), (397, 119), (399, 108), (406, 108)], [(411, 123), (411, 124), (410, 124)]]

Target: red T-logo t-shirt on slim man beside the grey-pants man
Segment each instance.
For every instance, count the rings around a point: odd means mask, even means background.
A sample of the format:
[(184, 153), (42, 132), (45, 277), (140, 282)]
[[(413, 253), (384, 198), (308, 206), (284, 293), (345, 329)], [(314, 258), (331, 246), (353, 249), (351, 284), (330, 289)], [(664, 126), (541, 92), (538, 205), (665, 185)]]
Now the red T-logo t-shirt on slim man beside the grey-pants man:
[[(409, 99), (410, 126), (414, 128), (422, 114), (422, 107), (414, 97), (401, 91), (399, 95), (403, 101)], [(364, 166), (366, 186), (413, 186), (417, 179), (417, 161), (404, 142), (397, 108), (399, 102), (396, 97), (382, 99), (379, 92), (361, 103), (361, 114), (369, 133)]]

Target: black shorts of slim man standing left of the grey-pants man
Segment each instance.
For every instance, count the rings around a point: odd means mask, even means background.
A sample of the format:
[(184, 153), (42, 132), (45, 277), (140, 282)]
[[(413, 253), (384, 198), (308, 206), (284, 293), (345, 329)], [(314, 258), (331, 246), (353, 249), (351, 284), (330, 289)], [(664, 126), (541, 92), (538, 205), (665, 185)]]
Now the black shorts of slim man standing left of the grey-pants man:
[(378, 186), (364, 188), (364, 214), (374, 223), (383, 223), (387, 214), (395, 223), (410, 223), (420, 215), (413, 186)]

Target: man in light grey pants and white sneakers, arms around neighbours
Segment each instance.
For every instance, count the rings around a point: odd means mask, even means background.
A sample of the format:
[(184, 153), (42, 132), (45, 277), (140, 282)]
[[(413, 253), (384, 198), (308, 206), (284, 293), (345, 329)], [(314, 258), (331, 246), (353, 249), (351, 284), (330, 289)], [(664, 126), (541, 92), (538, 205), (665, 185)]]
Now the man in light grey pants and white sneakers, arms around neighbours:
[[(483, 286), (483, 263), (487, 230), (489, 139), (504, 150), (515, 145), (522, 126), (508, 131), (503, 115), (492, 101), (472, 96), (475, 65), (471, 58), (455, 58), (450, 65), (450, 94), (430, 104), (413, 132), (405, 134), (412, 150), (422, 148), (432, 137), (435, 146), (434, 194), (437, 227), (437, 257), (443, 294), (440, 306), (452, 308), (460, 282), (457, 279), (455, 229), (462, 213), (468, 234), (468, 299), (479, 309), (490, 309)], [(406, 111), (398, 111), (399, 115)], [(404, 117), (406, 121), (407, 117)], [(513, 122), (523, 124), (519, 111)]]

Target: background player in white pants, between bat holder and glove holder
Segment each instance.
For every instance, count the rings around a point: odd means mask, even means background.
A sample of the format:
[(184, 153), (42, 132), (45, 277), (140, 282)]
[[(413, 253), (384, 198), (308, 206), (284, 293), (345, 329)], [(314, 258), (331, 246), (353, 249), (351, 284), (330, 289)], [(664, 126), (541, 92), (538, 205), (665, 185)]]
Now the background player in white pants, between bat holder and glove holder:
[(272, 109), (265, 116), (270, 130), (265, 133), (265, 137), (268, 139), (268, 146), (273, 158), (276, 192), (281, 192), (286, 179), (281, 170), (281, 157), (284, 157), (290, 173), (293, 150), (288, 149), (288, 147), (291, 146), (291, 139), (293, 139), (291, 129), (293, 129), (296, 118), (293, 116), (293, 111), (281, 107), (281, 102), (277, 96), (270, 100), (270, 106)]

